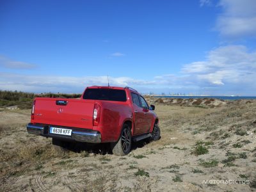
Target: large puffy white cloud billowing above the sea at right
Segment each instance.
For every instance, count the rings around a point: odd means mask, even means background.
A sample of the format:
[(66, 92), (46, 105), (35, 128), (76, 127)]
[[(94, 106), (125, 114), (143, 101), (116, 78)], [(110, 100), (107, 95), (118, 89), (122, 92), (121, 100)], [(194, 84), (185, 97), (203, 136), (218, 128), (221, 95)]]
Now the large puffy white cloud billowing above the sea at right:
[(256, 52), (249, 52), (243, 45), (218, 47), (208, 52), (205, 61), (189, 63), (182, 72), (209, 84), (238, 86), (250, 82), (248, 86), (255, 86)]

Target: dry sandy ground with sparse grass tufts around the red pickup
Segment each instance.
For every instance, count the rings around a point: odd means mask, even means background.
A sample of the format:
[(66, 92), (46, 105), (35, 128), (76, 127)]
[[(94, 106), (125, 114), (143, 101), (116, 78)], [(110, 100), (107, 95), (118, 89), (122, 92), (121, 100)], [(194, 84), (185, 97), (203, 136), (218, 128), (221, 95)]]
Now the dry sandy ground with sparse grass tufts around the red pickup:
[(255, 191), (255, 112), (253, 101), (156, 104), (161, 139), (133, 143), (118, 157), (107, 145), (58, 152), (50, 138), (26, 132), (30, 110), (5, 109), (0, 191)]

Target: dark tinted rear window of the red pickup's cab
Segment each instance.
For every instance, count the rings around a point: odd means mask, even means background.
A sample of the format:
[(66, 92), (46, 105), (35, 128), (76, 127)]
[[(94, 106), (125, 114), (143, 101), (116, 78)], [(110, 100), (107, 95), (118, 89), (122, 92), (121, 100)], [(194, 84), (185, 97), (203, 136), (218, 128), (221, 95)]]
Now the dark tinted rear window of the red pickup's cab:
[(125, 90), (86, 89), (83, 99), (126, 101)]

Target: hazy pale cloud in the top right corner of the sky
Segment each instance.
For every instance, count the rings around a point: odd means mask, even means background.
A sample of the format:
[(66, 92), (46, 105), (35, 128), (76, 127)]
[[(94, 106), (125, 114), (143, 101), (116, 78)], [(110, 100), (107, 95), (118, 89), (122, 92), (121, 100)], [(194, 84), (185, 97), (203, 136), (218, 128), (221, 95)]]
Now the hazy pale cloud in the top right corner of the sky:
[(223, 13), (217, 19), (216, 29), (222, 36), (256, 36), (255, 0), (221, 0), (219, 6), (223, 8)]

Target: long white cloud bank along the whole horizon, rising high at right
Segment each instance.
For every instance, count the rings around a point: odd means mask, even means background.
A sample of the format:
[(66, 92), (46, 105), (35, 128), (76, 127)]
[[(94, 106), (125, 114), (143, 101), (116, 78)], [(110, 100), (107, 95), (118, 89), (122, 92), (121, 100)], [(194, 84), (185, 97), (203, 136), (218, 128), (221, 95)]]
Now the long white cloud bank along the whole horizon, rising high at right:
[[(253, 95), (256, 89), (256, 51), (243, 45), (222, 46), (207, 52), (205, 60), (188, 63), (180, 74), (151, 79), (109, 77), (110, 86), (131, 86), (148, 92)], [(86, 86), (108, 85), (107, 76), (67, 77), (0, 72), (0, 90), (79, 93)]]

